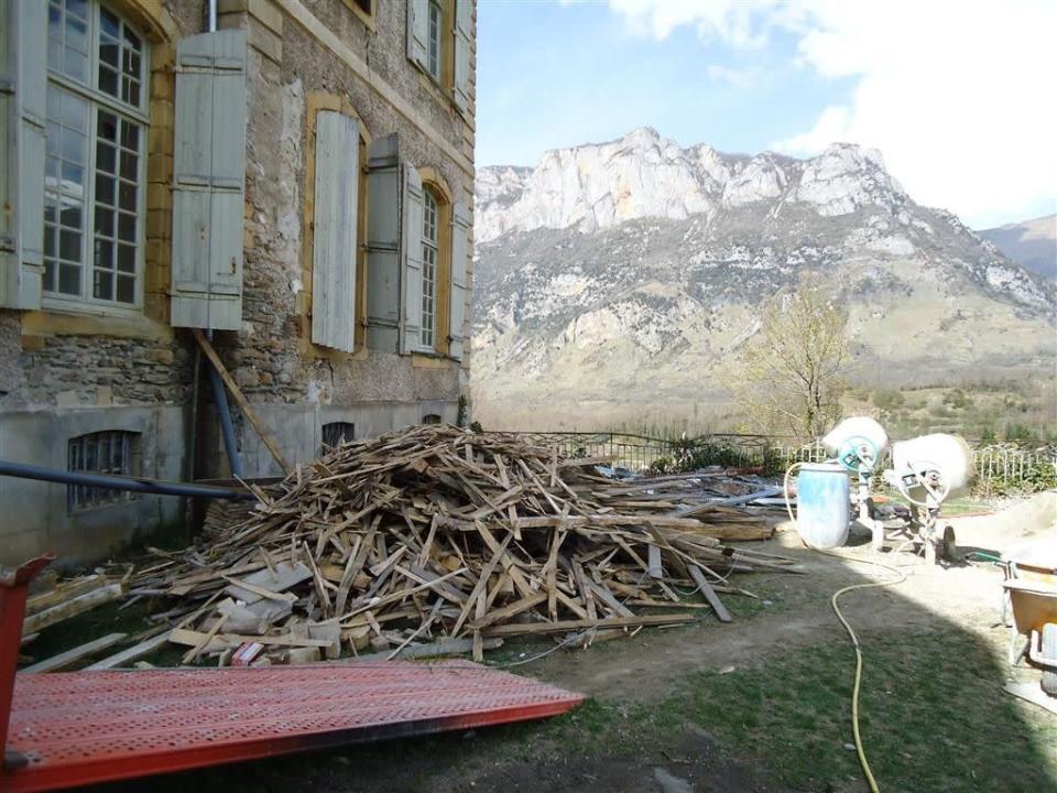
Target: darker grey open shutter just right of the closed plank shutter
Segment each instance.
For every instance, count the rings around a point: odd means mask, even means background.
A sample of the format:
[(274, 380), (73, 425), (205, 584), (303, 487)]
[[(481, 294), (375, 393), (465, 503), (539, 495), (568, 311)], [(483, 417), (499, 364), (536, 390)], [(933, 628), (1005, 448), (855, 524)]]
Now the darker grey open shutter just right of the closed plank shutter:
[(371, 141), (367, 171), (367, 346), (400, 351), (400, 155), (396, 133)]

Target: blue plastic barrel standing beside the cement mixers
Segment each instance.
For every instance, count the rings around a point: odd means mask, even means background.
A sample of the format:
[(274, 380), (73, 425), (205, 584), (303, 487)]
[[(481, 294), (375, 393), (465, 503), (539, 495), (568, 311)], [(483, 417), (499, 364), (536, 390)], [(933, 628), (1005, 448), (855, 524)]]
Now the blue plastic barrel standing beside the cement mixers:
[(811, 463), (796, 476), (796, 531), (810, 547), (840, 547), (848, 541), (851, 485), (842, 466)]

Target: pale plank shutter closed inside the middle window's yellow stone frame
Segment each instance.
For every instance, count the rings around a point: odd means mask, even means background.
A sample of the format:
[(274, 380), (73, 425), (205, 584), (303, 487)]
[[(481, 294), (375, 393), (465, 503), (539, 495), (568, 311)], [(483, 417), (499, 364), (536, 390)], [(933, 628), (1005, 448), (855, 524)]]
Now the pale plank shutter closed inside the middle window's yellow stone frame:
[(356, 226), (360, 132), (334, 110), (316, 115), (312, 222), (312, 340), (351, 352), (356, 343)]

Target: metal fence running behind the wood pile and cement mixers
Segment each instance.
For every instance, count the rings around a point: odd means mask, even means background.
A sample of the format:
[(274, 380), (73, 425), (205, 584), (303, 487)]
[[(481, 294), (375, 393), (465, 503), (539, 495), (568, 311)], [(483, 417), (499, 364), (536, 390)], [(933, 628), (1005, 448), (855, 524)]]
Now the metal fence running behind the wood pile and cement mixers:
[[(793, 463), (820, 463), (828, 455), (820, 442), (796, 444), (791, 437), (717, 433), (694, 438), (658, 438), (617, 432), (508, 432), (519, 439), (557, 448), (566, 457), (611, 457), (614, 467), (632, 471), (686, 470), (705, 465), (760, 467), (780, 474)], [(993, 444), (972, 449), (976, 491), (1003, 495), (1057, 487), (1057, 444), (1023, 448)], [(881, 460), (889, 465), (887, 454)]]

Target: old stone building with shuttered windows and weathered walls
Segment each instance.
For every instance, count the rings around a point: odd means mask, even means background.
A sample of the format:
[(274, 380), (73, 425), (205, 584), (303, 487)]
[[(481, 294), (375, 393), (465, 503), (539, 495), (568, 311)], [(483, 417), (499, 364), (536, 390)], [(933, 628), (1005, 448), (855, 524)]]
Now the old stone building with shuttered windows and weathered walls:
[[(196, 332), (288, 463), (465, 416), (473, 0), (3, 0), (0, 32), (0, 460), (229, 476)], [(0, 563), (184, 507), (0, 476)]]

